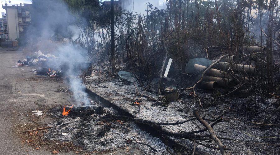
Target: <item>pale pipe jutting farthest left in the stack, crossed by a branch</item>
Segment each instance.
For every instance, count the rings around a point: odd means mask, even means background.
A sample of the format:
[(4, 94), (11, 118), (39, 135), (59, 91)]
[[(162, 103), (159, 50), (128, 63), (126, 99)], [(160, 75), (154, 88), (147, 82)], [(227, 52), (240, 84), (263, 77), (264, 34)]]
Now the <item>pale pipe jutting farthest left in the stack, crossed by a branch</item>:
[[(201, 70), (206, 69), (206, 68), (207, 67), (205, 67), (205, 66), (202, 66), (202, 65), (199, 65), (199, 64), (194, 64), (194, 70), (196, 70), (196, 71), (201, 71)], [(228, 78), (228, 79), (231, 79), (231, 80), (234, 79), (230, 74), (228, 74), (224, 71), (218, 70), (218, 69), (209, 69), (206, 72), (206, 74), (209, 75), (209, 76), (213, 76), (213, 77)]]

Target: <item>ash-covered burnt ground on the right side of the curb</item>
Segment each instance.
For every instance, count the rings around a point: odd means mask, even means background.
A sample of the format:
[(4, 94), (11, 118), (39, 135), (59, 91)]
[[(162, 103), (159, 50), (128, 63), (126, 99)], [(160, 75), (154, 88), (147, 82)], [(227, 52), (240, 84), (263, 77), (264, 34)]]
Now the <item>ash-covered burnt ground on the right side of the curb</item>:
[[(106, 69), (101, 71), (106, 73)], [(105, 80), (104, 80), (105, 79)], [(97, 91), (110, 98), (113, 104), (123, 108), (136, 118), (154, 121), (156, 123), (173, 123), (185, 121), (193, 116), (193, 111), (198, 110), (198, 100), (189, 96), (191, 91), (180, 91), (179, 100), (174, 102), (155, 102), (149, 98), (161, 100), (163, 95), (156, 95), (156, 83), (152, 83), (148, 91), (145, 91), (138, 83), (120, 80), (117, 77), (99, 75), (98, 72), (86, 80), (87, 88)], [(154, 85), (153, 85), (154, 84)], [(148, 85), (148, 83), (146, 84)], [(137, 89), (136, 89), (136, 88)], [(154, 87), (154, 88), (153, 88)], [(139, 98), (140, 95), (146, 95)], [(222, 95), (231, 90), (218, 89), (216, 91), (205, 91), (196, 89), (203, 108), (199, 114), (208, 119), (215, 119), (222, 113), (232, 110), (224, 115), (223, 122), (213, 127), (217, 136), (231, 138), (234, 140), (224, 140), (222, 143), (231, 150), (231, 154), (277, 154), (280, 149), (280, 129), (279, 115), (272, 117), (268, 125), (258, 124), (263, 122), (278, 106), (274, 104), (275, 97), (263, 97), (258, 92), (253, 91), (251, 86), (244, 86), (243, 89), (231, 93), (228, 96)], [(221, 98), (220, 98), (221, 97)], [(132, 103), (139, 100), (141, 111), (137, 111), (137, 106)], [(211, 123), (208, 121), (208, 123)], [(170, 132), (196, 131), (204, 127), (198, 122), (186, 122), (180, 125), (163, 126)], [(208, 134), (205, 131), (204, 134)], [(171, 137), (172, 138), (172, 137)], [(175, 138), (173, 138), (175, 139)], [(176, 141), (193, 148), (193, 143), (185, 139), (175, 139)], [(214, 141), (202, 142), (210, 146), (217, 146)], [(219, 154), (219, 150), (209, 149), (198, 145), (197, 150), (203, 154)]]

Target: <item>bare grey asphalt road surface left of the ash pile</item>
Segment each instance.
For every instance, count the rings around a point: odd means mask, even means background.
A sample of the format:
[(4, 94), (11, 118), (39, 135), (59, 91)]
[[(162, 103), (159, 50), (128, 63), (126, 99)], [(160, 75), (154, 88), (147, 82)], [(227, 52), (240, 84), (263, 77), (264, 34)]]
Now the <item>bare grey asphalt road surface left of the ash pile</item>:
[[(64, 87), (64, 83), (30, 79), (38, 77), (30, 72), (35, 68), (13, 67), (17, 60), (25, 58), (25, 54), (22, 50), (10, 50), (13, 49), (0, 48), (0, 154), (51, 154), (45, 149), (35, 150), (22, 143), (15, 134), (15, 128), (32, 124), (27, 117), (32, 110), (67, 103), (68, 96), (65, 93), (54, 92), (57, 88)], [(52, 121), (45, 118), (38, 123), (48, 124)]]

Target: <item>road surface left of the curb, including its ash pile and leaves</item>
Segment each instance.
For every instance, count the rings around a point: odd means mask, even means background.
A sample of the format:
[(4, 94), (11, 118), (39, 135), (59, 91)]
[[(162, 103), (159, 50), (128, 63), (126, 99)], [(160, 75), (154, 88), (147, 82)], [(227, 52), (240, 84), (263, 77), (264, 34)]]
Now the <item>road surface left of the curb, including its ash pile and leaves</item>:
[[(62, 117), (64, 105), (78, 103), (64, 83), (65, 78), (35, 75), (30, 70), (36, 67), (14, 67), (15, 62), (23, 60), (26, 55), (28, 52), (20, 49), (0, 50), (0, 154), (155, 153), (146, 145), (134, 141), (128, 144), (125, 139), (137, 139), (138, 142), (150, 144), (160, 154), (168, 154), (161, 140), (140, 130), (135, 123), (99, 121), (96, 114)], [(34, 110), (40, 110), (43, 114), (35, 116)], [(117, 114), (112, 108), (104, 108), (104, 111), (104, 115)], [(58, 121), (63, 121), (63, 124), (57, 125)], [(55, 127), (23, 132), (46, 126)]]

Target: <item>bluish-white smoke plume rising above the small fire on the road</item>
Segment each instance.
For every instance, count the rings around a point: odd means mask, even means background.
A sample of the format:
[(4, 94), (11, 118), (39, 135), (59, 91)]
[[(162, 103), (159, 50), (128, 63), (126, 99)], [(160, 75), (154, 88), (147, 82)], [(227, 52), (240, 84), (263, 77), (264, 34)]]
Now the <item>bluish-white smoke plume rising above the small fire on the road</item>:
[[(61, 0), (33, 0), (32, 4), (32, 24), (29, 31), (33, 42), (37, 42), (38, 50), (51, 52), (58, 57), (48, 62), (49, 67), (62, 69), (63, 74), (69, 78), (68, 82), (75, 99), (89, 104), (82, 81), (77, 78), (80, 74), (77, 63), (87, 60), (87, 51), (72, 44), (71, 40), (81, 35), (75, 18)], [(56, 40), (58, 38), (59, 41)]]

